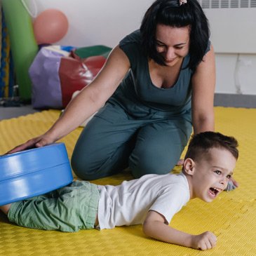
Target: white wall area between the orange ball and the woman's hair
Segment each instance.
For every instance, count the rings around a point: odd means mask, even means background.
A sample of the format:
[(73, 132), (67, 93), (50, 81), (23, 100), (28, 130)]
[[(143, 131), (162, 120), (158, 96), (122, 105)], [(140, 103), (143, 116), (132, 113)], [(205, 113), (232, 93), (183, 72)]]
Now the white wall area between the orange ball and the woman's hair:
[(38, 12), (57, 8), (69, 20), (69, 31), (58, 43), (71, 46), (103, 44), (113, 47), (140, 27), (153, 0), (29, 0)]

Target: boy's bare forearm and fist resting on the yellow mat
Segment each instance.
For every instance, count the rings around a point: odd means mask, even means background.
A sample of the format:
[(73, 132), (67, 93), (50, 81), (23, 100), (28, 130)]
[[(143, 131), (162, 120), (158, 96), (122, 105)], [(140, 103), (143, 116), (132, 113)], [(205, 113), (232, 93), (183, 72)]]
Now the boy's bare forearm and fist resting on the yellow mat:
[(207, 250), (216, 245), (217, 238), (209, 231), (199, 235), (191, 235), (173, 229), (165, 222), (166, 219), (163, 215), (154, 210), (149, 210), (143, 223), (144, 234), (163, 242), (175, 243), (194, 249)]

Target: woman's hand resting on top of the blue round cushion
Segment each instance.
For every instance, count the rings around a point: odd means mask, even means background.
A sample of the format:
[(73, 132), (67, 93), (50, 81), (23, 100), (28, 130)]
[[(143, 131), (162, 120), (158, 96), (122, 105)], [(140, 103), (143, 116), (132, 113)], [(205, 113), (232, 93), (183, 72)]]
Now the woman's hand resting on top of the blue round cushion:
[(13, 154), (15, 152), (23, 151), (25, 149), (32, 149), (34, 147), (43, 147), (53, 142), (55, 142), (55, 140), (51, 139), (50, 136), (44, 134), (39, 137), (34, 137), (33, 139), (18, 145), (17, 147), (8, 151), (6, 154)]

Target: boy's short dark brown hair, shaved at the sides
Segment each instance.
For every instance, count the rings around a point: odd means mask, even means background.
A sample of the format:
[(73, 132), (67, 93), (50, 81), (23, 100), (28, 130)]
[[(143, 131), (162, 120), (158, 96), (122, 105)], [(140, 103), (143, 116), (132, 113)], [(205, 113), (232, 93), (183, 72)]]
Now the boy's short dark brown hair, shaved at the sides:
[(234, 137), (215, 132), (198, 133), (191, 137), (185, 159), (189, 158), (196, 161), (213, 148), (227, 149), (235, 159), (238, 159), (237, 147), (238, 142)]

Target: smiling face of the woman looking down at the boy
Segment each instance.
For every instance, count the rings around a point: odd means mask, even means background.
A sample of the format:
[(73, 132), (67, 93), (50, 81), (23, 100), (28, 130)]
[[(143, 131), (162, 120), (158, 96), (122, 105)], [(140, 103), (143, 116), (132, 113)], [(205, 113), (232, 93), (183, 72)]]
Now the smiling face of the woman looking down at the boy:
[(189, 53), (190, 27), (156, 25), (156, 50), (166, 66), (173, 67)]

